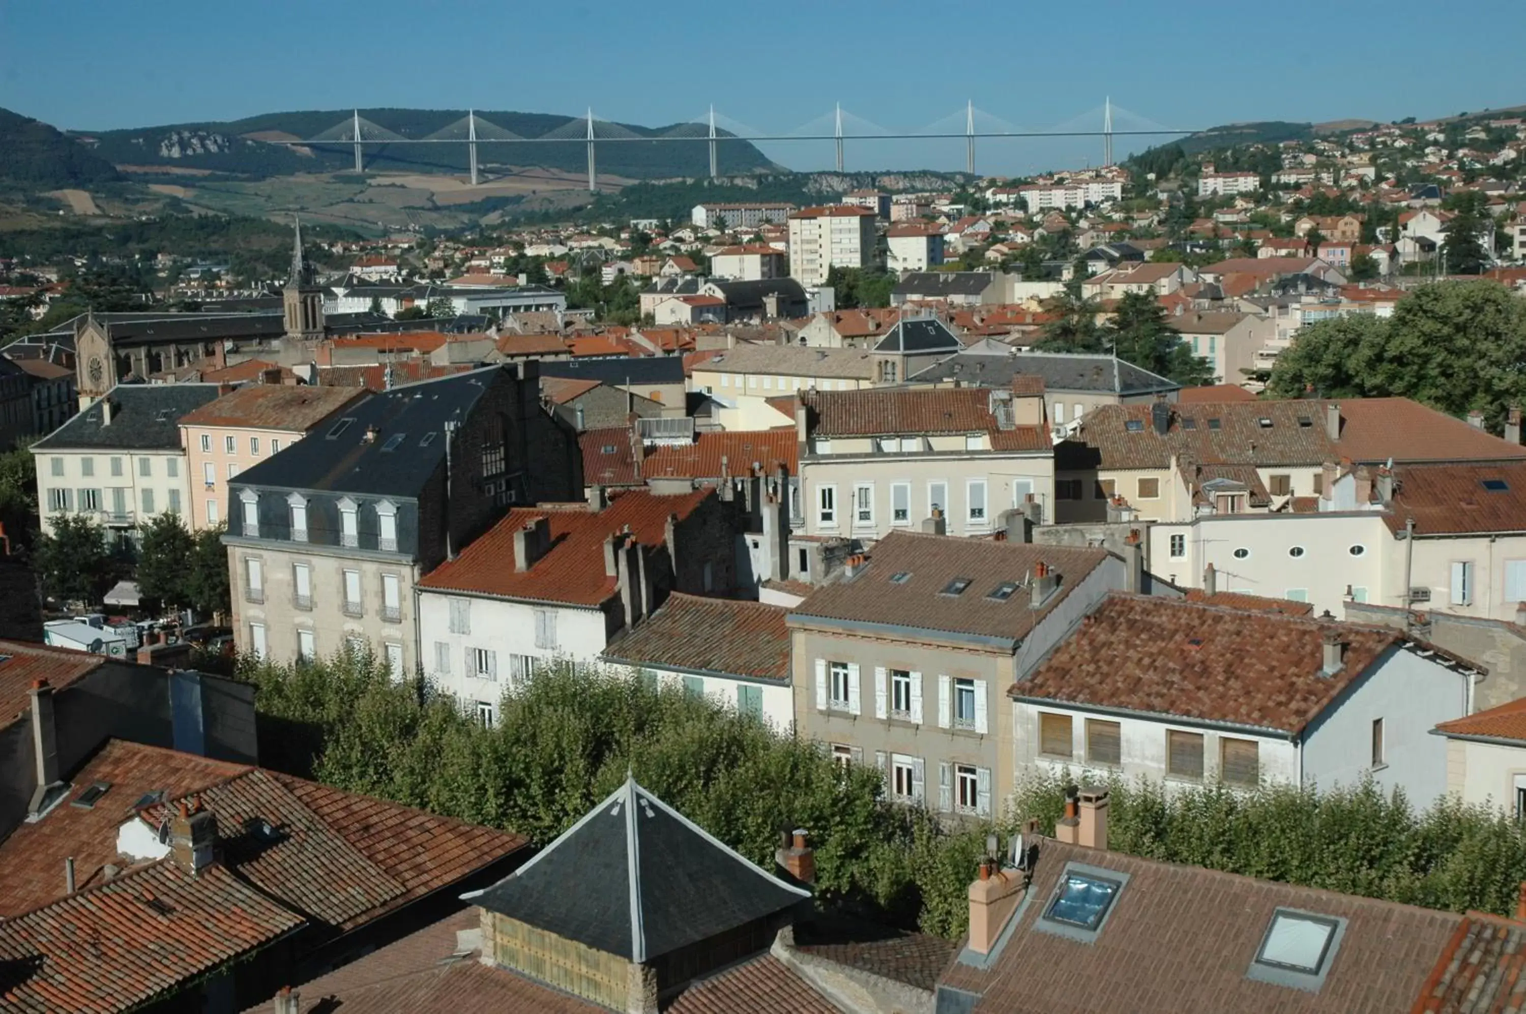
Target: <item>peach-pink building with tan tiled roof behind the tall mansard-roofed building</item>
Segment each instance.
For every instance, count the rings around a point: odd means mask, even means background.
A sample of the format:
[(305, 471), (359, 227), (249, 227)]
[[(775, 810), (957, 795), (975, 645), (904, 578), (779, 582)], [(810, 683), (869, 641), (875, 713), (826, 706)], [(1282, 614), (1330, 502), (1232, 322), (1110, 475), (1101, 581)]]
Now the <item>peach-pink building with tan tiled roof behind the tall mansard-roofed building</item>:
[(249, 384), (223, 393), (180, 419), (180, 441), (191, 467), (191, 528), (227, 520), (227, 483), (241, 471), (281, 453), (336, 412), (360, 401), (356, 387)]

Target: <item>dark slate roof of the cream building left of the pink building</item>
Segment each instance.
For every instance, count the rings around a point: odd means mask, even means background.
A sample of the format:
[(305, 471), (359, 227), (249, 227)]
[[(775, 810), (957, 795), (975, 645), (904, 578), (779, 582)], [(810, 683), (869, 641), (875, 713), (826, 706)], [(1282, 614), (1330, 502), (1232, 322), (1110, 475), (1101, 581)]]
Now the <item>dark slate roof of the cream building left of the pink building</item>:
[(102, 398), (111, 403), (110, 422), (96, 401), (32, 450), (179, 451), (182, 416), (217, 395), (217, 384), (118, 384)]

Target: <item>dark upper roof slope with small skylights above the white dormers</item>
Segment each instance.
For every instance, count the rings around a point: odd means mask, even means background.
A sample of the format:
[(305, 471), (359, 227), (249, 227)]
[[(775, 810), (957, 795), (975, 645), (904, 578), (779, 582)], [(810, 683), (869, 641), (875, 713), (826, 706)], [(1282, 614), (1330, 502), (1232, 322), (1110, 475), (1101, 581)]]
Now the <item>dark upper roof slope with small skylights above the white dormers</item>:
[[(490, 366), (371, 395), (327, 428), (238, 473), (238, 483), (417, 497), (444, 460), (446, 422), (465, 421), (501, 371), (513, 374), (514, 367)], [(345, 419), (351, 422), (345, 425)], [(377, 435), (368, 442), (372, 425)], [(389, 438), (398, 433), (404, 439), (389, 450)], [(429, 433), (435, 436), (424, 444)]]

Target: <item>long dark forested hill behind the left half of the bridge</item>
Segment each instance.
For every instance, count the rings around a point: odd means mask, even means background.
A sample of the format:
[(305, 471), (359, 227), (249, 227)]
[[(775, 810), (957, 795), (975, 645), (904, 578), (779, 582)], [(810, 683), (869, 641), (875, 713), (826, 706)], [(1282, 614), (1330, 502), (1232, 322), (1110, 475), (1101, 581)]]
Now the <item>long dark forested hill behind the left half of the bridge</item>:
[[(360, 110), (365, 120), (406, 139), (424, 139), (467, 116), (465, 110)], [(545, 113), (510, 113), (478, 110), (478, 136), (499, 136), (493, 127), (519, 137), (545, 137), (568, 124), (581, 124), (568, 116)], [(101, 133), (73, 131), (101, 159), (133, 166), (134, 174), (154, 168), (168, 171), (212, 171), (249, 178), (291, 175), (296, 172), (333, 172), (354, 165), (354, 148), (346, 142), (310, 146), (272, 143), (333, 136), (346, 124), (351, 110), (305, 110), (266, 113), (230, 122), (169, 124), (110, 130)], [(488, 127), (491, 125), (491, 127)], [(656, 137), (671, 127), (618, 125), (639, 137)], [(722, 131), (723, 134), (723, 131)], [(462, 131), (464, 136), (464, 131)], [(581, 134), (580, 134), (581, 136)], [(578, 137), (580, 137), (578, 136)], [(748, 142), (729, 142), (719, 148), (720, 171), (726, 174), (778, 169), (761, 151)], [(465, 172), (465, 145), (366, 145), (366, 168), (391, 172)], [(478, 157), (484, 166), (514, 165), (581, 172), (588, 151), (580, 139), (566, 142), (491, 142), (479, 140)], [(610, 175), (652, 180), (708, 175), (710, 152), (702, 140), (693, 143), (620, 140), (598, 146), (598, 171)]]

